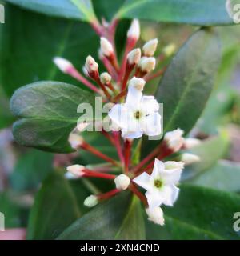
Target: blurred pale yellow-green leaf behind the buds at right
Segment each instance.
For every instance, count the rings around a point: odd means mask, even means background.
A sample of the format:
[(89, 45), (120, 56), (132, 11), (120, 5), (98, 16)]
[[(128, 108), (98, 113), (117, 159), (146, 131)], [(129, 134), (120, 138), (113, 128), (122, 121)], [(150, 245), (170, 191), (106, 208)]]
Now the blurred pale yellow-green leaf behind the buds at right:
[(210, 169), (220, 158), (224, 157), (229, 146), (229, 134), (226, 130), (221, 130), (218, 136), (206, 139), (199, 146), (187, 150), (188, 153), (197, 154), (201, 160), (184, 168), (182, 180), (193, 178), (203, 171)]

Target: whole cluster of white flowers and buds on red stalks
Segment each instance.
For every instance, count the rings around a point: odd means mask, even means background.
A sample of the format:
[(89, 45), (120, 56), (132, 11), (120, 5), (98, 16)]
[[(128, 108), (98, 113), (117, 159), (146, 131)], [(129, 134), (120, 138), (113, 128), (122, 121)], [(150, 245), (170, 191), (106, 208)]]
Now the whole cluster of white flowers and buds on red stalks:
[[(114, 21), (96, 30), (100, 36), (98, 55), (107, 70), (102, 74), (99, 74), (98, 63), (90, 55), (83, 67), (86, 78), (66, 59), (54, 58), (55, 64), (62, 72), (78, 79), (94, 93), (102, 95), (103, 102), (113, 103), (108, 113), (112, 130), (109, 133), (102, 129), (101, 133), (110, 140), (119, 157), (119, 161), (110, 158), (86, 142), (80, 132), (88, 124), (82, 123), (70, 134), (70, 145), (75, 150), (87, 150), (108, 164), (96, 166), (94, 170), (81, 165), (68, 166), (66, 178), (112, 179), (115, 189), (104, 194), (90, 195), (84, 202), (85, 206), (95, 206), (122, 190), (131, 190), (145, 205), (150, 221), (163, 225), (164, 218), (160, 206), (174, 205), (178, 198), (178, 182), (184, 165), (199, 161), (196, 155), (176, 153), (198, 145), (199, 141), (195, 138), (183, 138), (183, 131), (180, 129), (167, 132), (146, 158), (137, 165), (133, 164), (133, 140), (142, 138), (144, 134), (157, 136), (162, 133), (159, 104), (154, 96), (143, 94), (143, 90), (146, 82), (162, 75), (164, 70), (150, 73), (162, 58), (168, 58), (173, 54), (174, 46), (170, 45), (162, 50), (161, 58), (154, 58), (158, 46), (156, 38), (146, 42), (142, 50), (134, 48), (140, 36), (139, 22), (134, 19), (127, 32), (126, 50), (119, 65), (114, 46), (114, 31), (117, 24), (118, 22)], [(163, 162), (164, 158), (172, 154), (175, 161)], [(117, 167), (118, 175), (113, 174), (113, 167)], [(142, 189), (146, 190), (145, 194), (142, 193)]]

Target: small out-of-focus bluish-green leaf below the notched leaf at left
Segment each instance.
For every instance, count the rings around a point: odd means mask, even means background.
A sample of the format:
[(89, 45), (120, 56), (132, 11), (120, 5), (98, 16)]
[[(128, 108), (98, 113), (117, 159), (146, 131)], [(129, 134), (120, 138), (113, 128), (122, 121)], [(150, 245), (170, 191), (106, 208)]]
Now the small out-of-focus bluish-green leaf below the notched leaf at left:
[(36, 190), (53, 166), (53, 154), (30, 150), (22, 154), (10, 175), (14, 190)]

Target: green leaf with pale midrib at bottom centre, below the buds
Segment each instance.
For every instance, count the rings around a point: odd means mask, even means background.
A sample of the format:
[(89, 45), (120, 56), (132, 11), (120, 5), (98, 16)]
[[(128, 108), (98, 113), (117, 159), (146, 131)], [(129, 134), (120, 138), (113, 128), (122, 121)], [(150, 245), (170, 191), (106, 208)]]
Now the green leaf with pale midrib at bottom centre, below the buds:
[(58, 239), (144, 239), (140, 202), (122, 192), (74, 222)]

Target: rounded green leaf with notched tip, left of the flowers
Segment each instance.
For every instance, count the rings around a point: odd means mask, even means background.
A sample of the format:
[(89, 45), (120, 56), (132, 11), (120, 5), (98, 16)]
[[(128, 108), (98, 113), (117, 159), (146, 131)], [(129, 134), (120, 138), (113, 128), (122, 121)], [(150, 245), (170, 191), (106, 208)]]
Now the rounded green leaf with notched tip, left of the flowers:
[(82, 114), (80, 103), (94, 106), (94, 96), (62, 82), (36, 82), (18, 89), (11, 98), (14, 138), (23, 146), (52, 152), (73, 151), (68, 142), (70, 132)]

